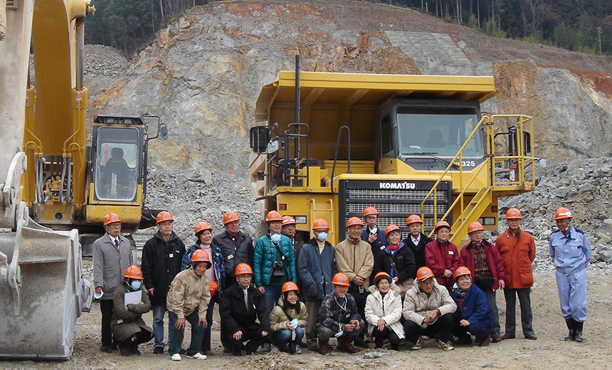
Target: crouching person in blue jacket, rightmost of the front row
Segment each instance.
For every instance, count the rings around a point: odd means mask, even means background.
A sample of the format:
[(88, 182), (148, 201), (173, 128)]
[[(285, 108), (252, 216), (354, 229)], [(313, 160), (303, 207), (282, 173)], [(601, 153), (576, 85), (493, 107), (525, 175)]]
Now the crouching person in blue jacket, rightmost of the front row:
[(450, 297), (457, 304), (457, 311), (453, 314), (453, 335), (459, 338), (459, 344), (472, 344), (473, 334), (480, 347), (487, 347), (493, 327), (487, 296), (472, 284), (472, 273), (465, 266), (455, 270), (455, 281), (455, 287), (450, 291)]

